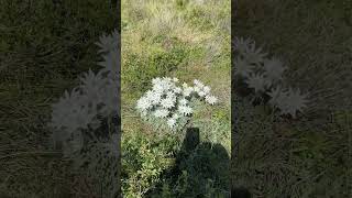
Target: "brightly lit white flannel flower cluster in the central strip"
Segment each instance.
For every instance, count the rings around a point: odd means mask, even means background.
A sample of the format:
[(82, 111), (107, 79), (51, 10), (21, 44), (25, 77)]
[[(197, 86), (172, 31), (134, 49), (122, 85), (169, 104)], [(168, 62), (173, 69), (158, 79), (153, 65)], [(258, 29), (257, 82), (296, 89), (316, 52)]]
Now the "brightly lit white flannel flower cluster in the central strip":
[(209, 105), (218, 102), (218, 98), (210, 94), (210, 87), (195, 79), (194, 86), (184, 82), (178, 86), (177, 78), (154, 78), (153, 88), (147, 90), (136, 102), (138, 111), (143, 116), (166, 119), (170, 129), (175, 129), (178, 121), (190, 117), (194, 112), (190, 102), (193, 98)]

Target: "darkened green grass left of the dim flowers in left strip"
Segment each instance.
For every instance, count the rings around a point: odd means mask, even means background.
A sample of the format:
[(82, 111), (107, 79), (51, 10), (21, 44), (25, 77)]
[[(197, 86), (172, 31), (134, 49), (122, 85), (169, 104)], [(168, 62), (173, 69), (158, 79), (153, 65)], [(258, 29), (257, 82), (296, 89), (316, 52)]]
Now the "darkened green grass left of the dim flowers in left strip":
[(46, 123), (77, 75), (98, 68), (94, 43), (114, 29), (114, 12), (108, 0), (0, 2), (0, 197), (96, 194), (51, 150)]

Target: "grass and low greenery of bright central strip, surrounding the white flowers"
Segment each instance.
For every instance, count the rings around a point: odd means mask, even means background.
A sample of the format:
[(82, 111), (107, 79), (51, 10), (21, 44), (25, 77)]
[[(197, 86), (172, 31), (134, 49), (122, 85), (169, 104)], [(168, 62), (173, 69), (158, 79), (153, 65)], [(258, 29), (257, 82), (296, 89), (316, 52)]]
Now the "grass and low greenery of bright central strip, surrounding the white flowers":
[[(226, 0), (122, 1), (122, 191), (127, 197), (229, 195), (229, 20)], [(151, 88), (151, 80), (164, 76), (186, 82), (200, 79), (220, 99), (219, 106), (196, 109), (194, 127), (199, 129), (200, 144), (186, 152), (189, 156), (183, 153), (185, 132), (155, 130), (135, 112), (136, 100)], [(220, 170), (206, 170), (215, 167)]]

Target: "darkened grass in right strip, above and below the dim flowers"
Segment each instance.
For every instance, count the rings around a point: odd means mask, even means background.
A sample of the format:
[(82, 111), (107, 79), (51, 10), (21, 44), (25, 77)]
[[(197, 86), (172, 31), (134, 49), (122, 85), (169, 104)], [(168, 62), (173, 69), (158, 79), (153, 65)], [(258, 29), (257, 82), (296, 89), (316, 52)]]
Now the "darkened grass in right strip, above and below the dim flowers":
[[(351, 2), (239, 1), (235, 35), (254, 38), (284, 61), (289, 68), (285, 79), (312, 94), (314, 101), (307, 119), (274, 123), (262, 109), (238, 103), (243, 117), (232, 183), (253, 197), (351, 195), (352, 26), (346, 4)], [(330, 122), (331, 113), (340, 118)]]

